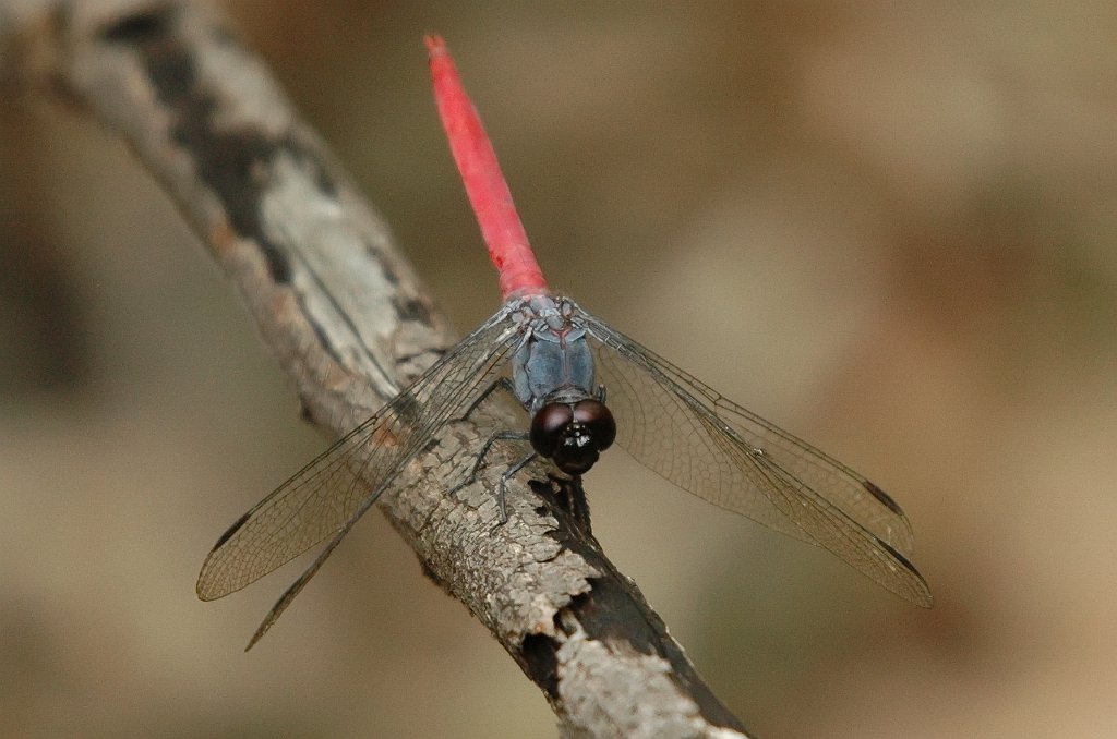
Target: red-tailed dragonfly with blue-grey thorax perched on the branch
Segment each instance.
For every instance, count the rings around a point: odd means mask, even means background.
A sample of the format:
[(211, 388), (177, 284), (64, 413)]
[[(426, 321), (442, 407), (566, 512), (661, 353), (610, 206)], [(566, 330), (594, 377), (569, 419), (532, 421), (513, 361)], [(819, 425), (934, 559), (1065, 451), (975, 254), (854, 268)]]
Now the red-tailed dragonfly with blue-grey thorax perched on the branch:
[(580, 482), (615, 443), (682, 490), (822, 547), (929, 607), (930, 591), (911, 564), (910, 522), (884, 490), (548, 289), (446, 42), (424, 40), (439, 117), (499, 275), (500, 308), (221, 535), (198, 596), (223, 597), (325, 543), (251, 649), (435, 435), (505, 393), (526, 412), (527, 429), (493, 434), (465, 481), (497, 441), (524, 445), (526, 455), (500, 476), (502, 521), (507, 482), (528, 462), (550, 460)]

